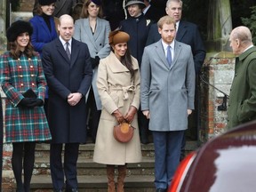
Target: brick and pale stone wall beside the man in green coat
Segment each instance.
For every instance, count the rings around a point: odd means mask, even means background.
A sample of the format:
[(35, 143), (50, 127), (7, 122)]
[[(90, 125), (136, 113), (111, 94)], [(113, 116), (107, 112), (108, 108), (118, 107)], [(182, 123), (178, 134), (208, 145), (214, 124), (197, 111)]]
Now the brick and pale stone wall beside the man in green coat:
[(199, 131), (199, 136), (202, 142), (226, 132), (227, 110), (219, 110), (218, 107), (222, 104), (223, 92), (229, 95), (234, 68), (235, 56), (233, 53), (207, 54), (202, 72), (204, 79), (201, 80), (202, 129)]

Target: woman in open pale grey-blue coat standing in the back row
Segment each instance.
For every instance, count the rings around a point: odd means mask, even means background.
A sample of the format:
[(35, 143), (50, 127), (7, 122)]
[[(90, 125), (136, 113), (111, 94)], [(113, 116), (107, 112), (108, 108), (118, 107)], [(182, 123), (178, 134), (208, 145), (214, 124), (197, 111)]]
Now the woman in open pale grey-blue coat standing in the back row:
[(108, 44), (110, 25), (107, 20), (100, 19), (103, 14), (100, 4), (100, 0), (84, 1), (81, 19), (75, 22), (76, 29), (74, 34), (76, 40), (88, 45), (91, 55), (93, 76), (87, 107), (90, 108), (88, 111), (90, 111), (92, 116), (92, 124), (89, 125), (92, 134), (92, 142), (96, 140), (101, 111), (100, 95), (96, 86), (98, 65), (100, 59), (107, 57), (110, 52), (110, 46)]

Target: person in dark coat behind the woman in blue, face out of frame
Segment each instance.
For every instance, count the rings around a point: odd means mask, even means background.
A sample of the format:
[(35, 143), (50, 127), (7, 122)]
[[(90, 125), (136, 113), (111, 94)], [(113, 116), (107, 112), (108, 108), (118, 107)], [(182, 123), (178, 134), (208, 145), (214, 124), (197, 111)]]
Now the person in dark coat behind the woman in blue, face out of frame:
[[(33, 15), (35, 16), (37, 14), (37, 7), (38, 4), (42, 1), (47, 0), (35, 0), (34, 9), (33, 9)], [(63, 14), (72, 14), (72, 8), (76, 5), (76, 0), (57, 0), (55, 4), (55, 9), (52, 15), (54, 17), (60, 18)]]

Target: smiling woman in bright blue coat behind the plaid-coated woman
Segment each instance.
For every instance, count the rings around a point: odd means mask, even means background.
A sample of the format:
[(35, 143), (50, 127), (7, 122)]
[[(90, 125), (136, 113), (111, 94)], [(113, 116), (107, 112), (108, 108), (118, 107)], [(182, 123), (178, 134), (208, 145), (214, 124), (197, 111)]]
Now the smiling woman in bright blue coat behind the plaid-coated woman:
[[(31, 36), (31, 42), (36, 52), (39, 52), (42, 56), (42, 50), (44, 44), (51, 42), (57, 38), (57, 32), (55, 28), (54, 19), (52, 13), (54, 12), (56, 0), (38, 0), (37, 14), (29, 20), (33, 27), (33, 34)], [(47, 88), (47, 87), (46, 87)], [(46, 116), (48, 114), (48, 88), (46, 90), (44, 110)]]

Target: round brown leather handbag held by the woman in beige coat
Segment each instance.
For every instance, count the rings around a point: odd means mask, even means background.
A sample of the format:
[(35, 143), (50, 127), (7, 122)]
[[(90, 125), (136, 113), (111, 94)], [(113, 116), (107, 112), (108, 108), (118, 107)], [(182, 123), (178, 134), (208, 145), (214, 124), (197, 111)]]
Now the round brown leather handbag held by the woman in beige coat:
[(113, 135), (114, 138), (119, 142), (129, 142), (132, 140), (134, 127), (131, 124), (122, 123), (114, 126)]

